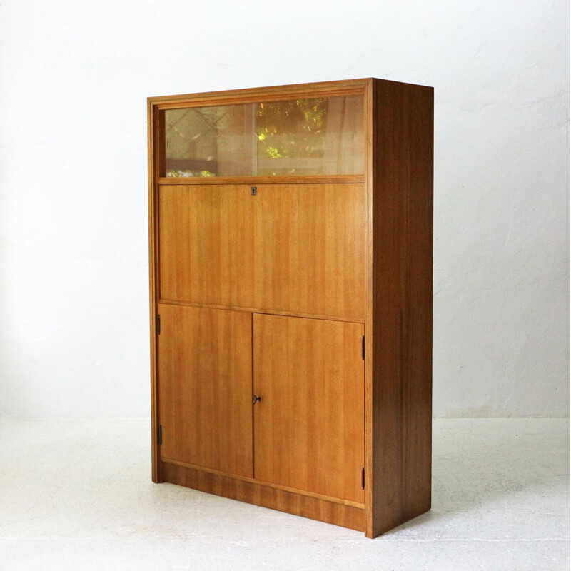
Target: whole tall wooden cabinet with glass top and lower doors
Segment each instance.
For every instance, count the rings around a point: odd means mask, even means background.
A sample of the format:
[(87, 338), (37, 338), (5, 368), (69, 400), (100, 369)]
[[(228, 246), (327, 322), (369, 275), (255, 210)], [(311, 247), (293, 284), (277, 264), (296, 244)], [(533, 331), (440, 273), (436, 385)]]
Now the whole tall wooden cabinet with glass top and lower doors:
[(153, 481), (375, 537), (430, 509), (433, 90), (148, 99)]

